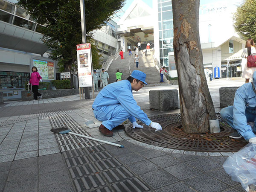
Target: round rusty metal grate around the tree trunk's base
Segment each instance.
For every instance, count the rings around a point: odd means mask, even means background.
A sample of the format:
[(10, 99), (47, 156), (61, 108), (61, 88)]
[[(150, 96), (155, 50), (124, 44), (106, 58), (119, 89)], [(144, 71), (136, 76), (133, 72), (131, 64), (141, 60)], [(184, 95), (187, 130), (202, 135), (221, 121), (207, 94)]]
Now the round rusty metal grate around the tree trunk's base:
[(247, 142), (244, 139), (233, 140), (228, 135), (234, 130), (227, 125), (217, 114), (220, 120), (220, 133), (215, 134), (186, 134), (182, 130), (180, 114), (165, 114), (151, 116), (153, 122), (158, 122), (162, 126), (162, 131), (145, 126), (144, 128), (132, 128), (132, 125), (126, 126), (125, 132), (135, 140), (159, 147), (173, 148), (186, 151), (201, 152), (233, 152), (239, 151)]

